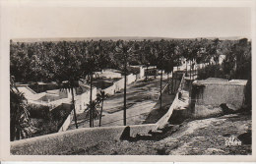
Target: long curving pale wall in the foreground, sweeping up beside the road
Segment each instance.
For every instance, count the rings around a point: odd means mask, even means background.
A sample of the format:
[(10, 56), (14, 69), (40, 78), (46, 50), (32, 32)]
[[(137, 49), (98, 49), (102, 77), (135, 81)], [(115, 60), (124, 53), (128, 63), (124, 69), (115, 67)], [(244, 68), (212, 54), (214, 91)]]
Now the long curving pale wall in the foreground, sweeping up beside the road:
[[(169, 110), (156, 124), (133, 125), (130, 127), (130, 136), (148, 135), (150, 131), (163, 128), (167, 124), (173, 109), (177, 105), (178, 92), (181, 90), (184, 74), (179, 84), (175, 99)], [(102, 140), (119, 140), (124, 129), (128, 126), (82, 128), (57, 134), (45, 135), (41, 137), (31, 137), (11, 142), (10, 151), (15, 155), (57, 155), (70, 150), (71, 147), (79, 148), (94, 146)]]

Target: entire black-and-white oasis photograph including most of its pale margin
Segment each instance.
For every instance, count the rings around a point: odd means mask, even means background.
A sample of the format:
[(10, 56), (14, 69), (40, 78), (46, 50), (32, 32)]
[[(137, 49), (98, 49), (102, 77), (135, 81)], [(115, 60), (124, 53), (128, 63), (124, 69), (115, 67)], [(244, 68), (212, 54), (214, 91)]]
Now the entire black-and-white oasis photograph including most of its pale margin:
[(252, 157), (250, 6), (46, 2), (5, 9), (6, 154)]

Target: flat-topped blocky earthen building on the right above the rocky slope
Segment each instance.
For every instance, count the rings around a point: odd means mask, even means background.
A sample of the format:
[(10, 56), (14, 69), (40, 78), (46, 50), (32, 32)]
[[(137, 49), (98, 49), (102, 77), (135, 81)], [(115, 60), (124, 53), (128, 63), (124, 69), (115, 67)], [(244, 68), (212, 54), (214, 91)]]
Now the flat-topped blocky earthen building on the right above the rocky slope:
[(221, 104), (238, 110), (244, 104), (245, 80), (195, 81), (192, 83), (191, 105), (196, 117), (207, 117), (223, 112)]

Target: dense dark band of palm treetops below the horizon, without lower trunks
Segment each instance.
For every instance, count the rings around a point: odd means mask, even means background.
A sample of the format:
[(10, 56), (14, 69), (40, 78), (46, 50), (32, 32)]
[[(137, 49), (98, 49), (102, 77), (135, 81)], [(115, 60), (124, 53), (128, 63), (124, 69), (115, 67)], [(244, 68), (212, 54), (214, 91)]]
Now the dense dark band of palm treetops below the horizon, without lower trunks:
[(148, 67), (163, 66), (162, 63), (165, 63), (164, 70), (171, 72), (172, 66), (179, 65), (181, 59), (191, 62), (192, 65), (211, 64), (211, 59), (215, 64), (219, 64), (219, 56), (225, 55), (223, 65), (225, 75), (236, 79), (247, 79), (250, 74), (251, 44), (247, 39), (235, 41), (195, 39), (34, 43), (11, 41), (11, 75), (15, 77), (16, 82), (55, 82), (63, 76), (59, 75), (59, 72), (67, 75), (83, 72), (83, 76), (86, 76), (89, 72), (104, 68), (123, 70), (126, 56), (124, 52), (117, 52), (119, 44), (126, 45), (127, 51), (130, 50), (127, 52), (129, 54), (127, 63), (131, 65)]

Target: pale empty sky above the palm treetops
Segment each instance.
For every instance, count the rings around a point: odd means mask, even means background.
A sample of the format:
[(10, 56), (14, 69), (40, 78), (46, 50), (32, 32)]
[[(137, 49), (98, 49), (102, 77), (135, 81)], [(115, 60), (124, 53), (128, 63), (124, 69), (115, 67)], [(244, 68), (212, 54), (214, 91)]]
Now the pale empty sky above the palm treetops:
[(250, 8), (16, 6), (9, 12), (12, 38), (251, 35)]

